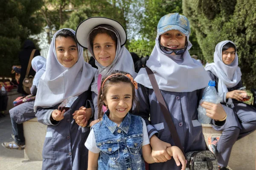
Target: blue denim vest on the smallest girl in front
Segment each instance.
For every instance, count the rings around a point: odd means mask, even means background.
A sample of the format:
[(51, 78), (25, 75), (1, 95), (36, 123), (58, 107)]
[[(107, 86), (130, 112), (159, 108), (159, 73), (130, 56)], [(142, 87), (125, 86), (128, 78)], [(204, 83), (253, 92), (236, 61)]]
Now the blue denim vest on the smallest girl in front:
[(98, 170), (145, 170), (142, 118), (128, 113), (117, 127), (108, 115), (105, 112), (102, 121), (92, 127), (100, 149)]

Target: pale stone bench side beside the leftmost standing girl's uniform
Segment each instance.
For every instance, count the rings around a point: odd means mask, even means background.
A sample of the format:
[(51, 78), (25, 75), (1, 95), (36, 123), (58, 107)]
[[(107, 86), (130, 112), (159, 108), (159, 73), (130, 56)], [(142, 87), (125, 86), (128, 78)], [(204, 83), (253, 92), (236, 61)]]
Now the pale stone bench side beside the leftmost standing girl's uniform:
[(39, 123), (37, 118), (33, 118), (23, 123), (23, 130), (26, 140), (26, 147), (24, 149), (25, 158), (31, 161), (42, 161), (47, 126)]

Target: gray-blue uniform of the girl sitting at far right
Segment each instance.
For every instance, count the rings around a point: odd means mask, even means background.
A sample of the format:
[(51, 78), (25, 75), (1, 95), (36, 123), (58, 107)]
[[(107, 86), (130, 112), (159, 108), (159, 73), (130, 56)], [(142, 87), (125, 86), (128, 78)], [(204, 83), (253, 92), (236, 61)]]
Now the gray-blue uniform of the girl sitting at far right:
[[(211, 79), (216, 82), (215, 88), (218, 91), (218, 78), (212, 74), (212, 72), (207, 72)], [(242, 86), (242, 81), (240, 81), (236, 86), (227, 89), (231, 92)], [(223, 107), (227, 107), (226, 94), (227, 93), (219, 94), (222, 98), (221, 104)], [(215, 130), (223, 130), (217, 144), (216, 153), (218, 165), (221, 167), (227, 167), (233, 144), (240, 138), (243, 138), (256, 130), (256, 109), (235, 99), (232, 99), (232, 101), (234, 108), (231, 109), (227, 107), (232, 110), (232, 112), (227, 112), (225, 125), (223, 127), (213, 127)]]

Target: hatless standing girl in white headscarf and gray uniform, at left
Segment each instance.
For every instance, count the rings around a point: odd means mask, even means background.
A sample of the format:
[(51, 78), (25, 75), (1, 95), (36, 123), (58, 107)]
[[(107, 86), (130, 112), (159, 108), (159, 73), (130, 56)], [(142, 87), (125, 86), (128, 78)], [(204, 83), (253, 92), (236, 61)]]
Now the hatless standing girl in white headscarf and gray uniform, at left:
[[(86, 106), (95, 73), (96, 69), (84, 62), (75, 31), (60, 29), (53, 35), (34, 106), (38, 122), (47, 125), (43, 170), (87, 169), (88, 150), (84, 142), (90, 128), (76, 124), (72, 113)], [(58, 106), (70, 96), (78, 98), (70, 109), (59, 111)]]

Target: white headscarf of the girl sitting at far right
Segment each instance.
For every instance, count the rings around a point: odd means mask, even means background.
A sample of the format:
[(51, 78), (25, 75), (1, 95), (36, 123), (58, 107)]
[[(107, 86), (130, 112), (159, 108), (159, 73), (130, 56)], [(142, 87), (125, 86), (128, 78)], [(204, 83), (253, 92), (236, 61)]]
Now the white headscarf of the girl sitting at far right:
[[(230, 65), (226, 65), (222, 61), (222, 49), (223, 46), (227, 43), (233, 43), (230, 40), (221, 41), (215, 47), (213, 61), (214, 63), (209, 63), (205, 66), (205, 69), (211, 71), (219, 80), (218, 80), (218, 92), (228, 92), (228, 87), (234, 87), (241, 81), (241, 70), (238, 66), (238, 55), (236, 53), (234, 61)], [(233, 43), (234, 44), (234, 43)], [(234, 44), (235, 45), (235, 44)], [(232, 99), (229, 98), (227, 105), (230, 105), (232, 108), (234, 104)]]

